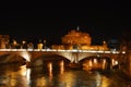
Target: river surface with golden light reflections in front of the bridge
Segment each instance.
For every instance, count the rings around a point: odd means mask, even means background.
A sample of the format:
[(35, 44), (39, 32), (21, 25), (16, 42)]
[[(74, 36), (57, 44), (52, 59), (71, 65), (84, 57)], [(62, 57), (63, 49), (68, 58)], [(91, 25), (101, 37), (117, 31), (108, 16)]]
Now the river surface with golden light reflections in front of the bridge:
[(26, 65), (1, 65), (0, 87), (126, 87), (126, 82), (114, 74), (66, 69), (63, 60), (55, 64), (50, 61), (31, 69)]

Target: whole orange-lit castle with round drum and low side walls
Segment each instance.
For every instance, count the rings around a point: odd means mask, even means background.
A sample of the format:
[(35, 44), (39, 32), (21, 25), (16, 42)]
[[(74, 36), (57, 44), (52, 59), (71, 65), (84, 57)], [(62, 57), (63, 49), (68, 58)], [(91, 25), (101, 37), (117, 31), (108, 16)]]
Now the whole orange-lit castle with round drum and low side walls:
[(106, 41), (102, 46), (92, 46), (92, 37), (78, 29), (70, 30), (62, 38), (62, 45), (53, 45), (52, 49), (108, 50)]

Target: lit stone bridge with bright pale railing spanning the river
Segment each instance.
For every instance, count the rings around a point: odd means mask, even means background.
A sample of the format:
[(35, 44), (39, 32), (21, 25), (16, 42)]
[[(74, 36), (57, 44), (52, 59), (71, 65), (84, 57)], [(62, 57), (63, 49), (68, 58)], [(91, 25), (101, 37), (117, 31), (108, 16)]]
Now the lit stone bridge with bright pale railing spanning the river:
[[(124, 54), (124, 52), (122, 52)], [(10, 59), (23, 58), (27, 62), (33, 62), (38, 58), (48, 55), (60, 55), (70, 60), (71, 62), (78, 63), (79, 61), (88, 58), (110, 58), (117, 60), (119, 51), (100, 51), (100, 50), (52, 50), (52, 49), (0, 49), (0, 57), (8, 55), (7, 62)]]

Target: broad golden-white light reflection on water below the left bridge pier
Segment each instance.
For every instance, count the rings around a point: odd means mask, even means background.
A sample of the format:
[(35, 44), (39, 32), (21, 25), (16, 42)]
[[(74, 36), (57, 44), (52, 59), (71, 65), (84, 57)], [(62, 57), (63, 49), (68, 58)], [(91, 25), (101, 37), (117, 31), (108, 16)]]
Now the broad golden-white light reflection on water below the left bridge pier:
[(17, 72), (10, 71), (10, 87), (28, 87), (29, 86), (31, 69), (26, 69), (26, 65), (20, 66)]

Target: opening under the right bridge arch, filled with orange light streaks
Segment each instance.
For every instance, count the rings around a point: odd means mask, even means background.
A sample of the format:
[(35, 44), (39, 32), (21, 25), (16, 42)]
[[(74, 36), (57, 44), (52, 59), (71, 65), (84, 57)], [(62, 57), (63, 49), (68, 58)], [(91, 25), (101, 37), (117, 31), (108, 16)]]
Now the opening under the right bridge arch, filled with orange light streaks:
[(108, 57), (87, 57), (79, 61), (83, 70), (107, 70), (111, 67), (111, 59)]

